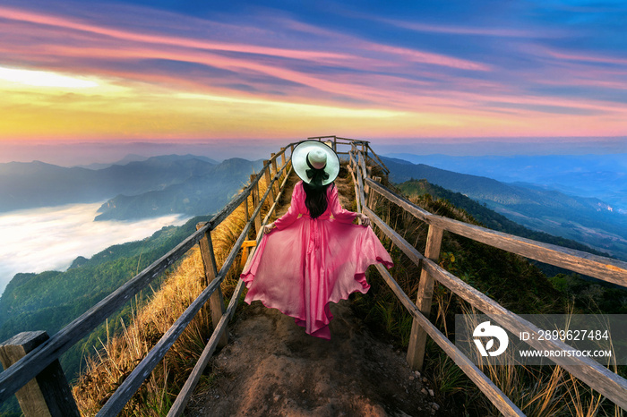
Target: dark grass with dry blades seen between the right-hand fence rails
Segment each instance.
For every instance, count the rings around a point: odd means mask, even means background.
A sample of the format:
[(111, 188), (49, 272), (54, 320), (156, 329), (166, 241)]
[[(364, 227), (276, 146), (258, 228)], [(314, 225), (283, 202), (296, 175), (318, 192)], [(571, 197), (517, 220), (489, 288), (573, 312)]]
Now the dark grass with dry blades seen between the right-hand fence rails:
[[(393, 189), (391, 184), (385, 184)], [(389, 226), (397, 231), (409, 243), (414, 243), (418, 251), (424, 253), (425, 240), (428, 227), (424, 223), (409, 215), (404, 210), (399, 209), (386, 199), (377, 199), (377, 212)], [(446, 207), (447, 213), (434, 211), (431, 206), (432, 200), (426, 198), (419, 204), (417, 198), (410, 198), (417, 205), (425, 207), (435, 214), (443, 216), (458, 217), (462, 221), (468, 221), (468, 213), (454, 207)], [(400, 253), (395, 245), (380, 231), (377, 232), (382, 243), (391, 251), (395, 266), (392, 270), (393, 277), (403, 288), (411, 299), (416, 298), (417, 277), (420, 276), (420, 269), (407, 257)], [(451, 253), (442, 253), (442, 257), (451, 256)], [(443, 262), (443, 261), (442, 261)], [(454, 271), (456, 275), (463, 275), (463, 271)], [(374, 278), (371, 285), (378, 286)], [(374, 297), (374, 305), (366, 317), (374, 316), (378, 320), (388, 321), (386, 328), (388, 332), (399, 337), (402, 345), (406, 345), (408, 328), (411, 320), (407, 323), (404, 318), (408, 316), (404, 310), (398, 307), (397, 302), (389, 302), (384, 294), (387, 288), (377, 288), (379, 294)], [(435, 324), (445, 335), (451, 333), (451, 315), (455, 312), (469, 314), (471, 311), (477, 314), (468, 303), (460, 300), (442, 285), (435, 285), (434, 288), (434, 308), (432, 316)], [(455, 311), (460, 308), (461, 311)], [(384, 312), (381, 312), (385, 310)], [(404, 326), (400, 325), (403, 324)], [(477, 323), (478, 324), (478, 323)], [(442, 396), (452, 396), (456, 398), (460, 408), (465, 413), (471, 415), (501, 415), (486, 396), (484, 396), (477, 386), (463, 373), (462, 370), (452, 362), (433, 341), (427, 344), (427, 357), (425, 358), (425, 373), (430, 375), (436, 385), (437, 391)], [(477, 359), (482, 359), (481, 357)], [(512, 361), (513, 362), (513, 361)], [(517, 404), (523, 413), (528, 416), (577, 416), (591, 417), (596, 415), (623, 415), (620, 408), (614, 404), (604, 403), (604, 398), (593, 389), (573, 377), (568, 371), (560, 366), (552, 367), (525, 367), (525, 366), (505, 366), (484, 362), (479, 368), (499, 387), (505, 396), (508, 396), (514, 404)], [(460, 410), (461, 412), (461, 410)], [(461, 413), (464, 413), (461, 412)]]

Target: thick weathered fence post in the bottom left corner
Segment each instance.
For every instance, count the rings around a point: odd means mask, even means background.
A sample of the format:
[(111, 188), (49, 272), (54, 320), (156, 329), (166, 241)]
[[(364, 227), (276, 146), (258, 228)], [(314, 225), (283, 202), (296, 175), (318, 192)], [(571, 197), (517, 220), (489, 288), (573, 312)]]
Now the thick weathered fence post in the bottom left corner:
[[(45, 331), (23, 332), (0, 345), (4, 370), (47, 341)], [(15, 393), (25, 417), (81, 417), (58, 359)]]

